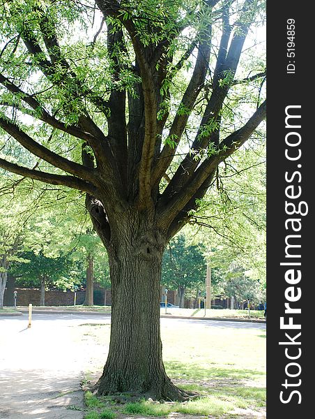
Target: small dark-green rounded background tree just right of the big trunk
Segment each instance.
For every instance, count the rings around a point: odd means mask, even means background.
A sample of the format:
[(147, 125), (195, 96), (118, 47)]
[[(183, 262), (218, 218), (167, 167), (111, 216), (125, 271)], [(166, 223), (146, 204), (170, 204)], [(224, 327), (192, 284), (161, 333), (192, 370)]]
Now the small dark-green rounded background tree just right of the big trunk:
[(185, 236), (174, 237), (166, 251), (162, 262), (162, 284), (178, 290), (179, 307), (184, 307), (187, 288), (204, 285), (206, 275), (205, 251), (202, 245), (185, 245)]

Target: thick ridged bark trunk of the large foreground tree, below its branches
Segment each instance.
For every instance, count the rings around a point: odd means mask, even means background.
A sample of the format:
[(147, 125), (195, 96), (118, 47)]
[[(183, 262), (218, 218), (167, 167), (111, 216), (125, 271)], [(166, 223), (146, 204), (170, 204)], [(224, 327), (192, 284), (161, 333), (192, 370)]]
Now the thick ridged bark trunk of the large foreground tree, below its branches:
[(99, 395), (132, 392), (153, 399), (185, 399), (162, 362), (160, 276), (164, 240), (157, 230), (139, 230), (146, 216), (119, 220), (107, 253), (112, 281), (112, 327), (107, 362), (95, 389)]

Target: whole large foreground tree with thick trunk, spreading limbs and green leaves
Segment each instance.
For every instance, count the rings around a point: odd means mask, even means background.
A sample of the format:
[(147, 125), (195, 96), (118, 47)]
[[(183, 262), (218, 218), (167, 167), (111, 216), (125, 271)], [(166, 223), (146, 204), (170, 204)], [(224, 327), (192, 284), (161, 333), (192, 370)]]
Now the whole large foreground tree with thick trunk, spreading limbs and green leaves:
[[(0, 167), (85, 193), (108, 252), (112, 332), (98, 392), (183, 399), (162, 362), (162, 253), (218, 165), (266, 116), (266, 103), (253, 110), (236, 100), (264, 76), (254, 59), (236, 74), (263, 2), (10, 0), (0, 8), (0, 126), (30, 152), (21, 163), (7, 146)], [(243, 118), (231, 121), (229, 101)]]

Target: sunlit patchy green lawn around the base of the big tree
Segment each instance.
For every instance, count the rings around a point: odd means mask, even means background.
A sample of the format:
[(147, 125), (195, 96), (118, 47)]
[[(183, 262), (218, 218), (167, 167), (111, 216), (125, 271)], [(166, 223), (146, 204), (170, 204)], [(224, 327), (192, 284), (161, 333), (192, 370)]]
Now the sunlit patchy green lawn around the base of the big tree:
[[(79, 329), (82, 338), (108, 345), (109, 325), (86, 324)], [(164, 321), (161, 332), (167, 374), (179, 388), (200, 397), (184, 403), (128, 402), (127, 397), (127, 402), (117, 404), (87, 391), (86, 419), (266, 417), (266, 330), (209, 327), (203, 322), (194, 327), (180, 323), (175, 329)], [(98, 360), (90, 373), (101, 374), (102, 367)]]

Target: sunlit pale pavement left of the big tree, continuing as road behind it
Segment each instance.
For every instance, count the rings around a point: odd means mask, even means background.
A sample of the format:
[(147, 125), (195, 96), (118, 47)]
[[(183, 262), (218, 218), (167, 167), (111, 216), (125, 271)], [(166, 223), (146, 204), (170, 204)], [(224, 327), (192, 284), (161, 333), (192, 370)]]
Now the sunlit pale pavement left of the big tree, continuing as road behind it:
[[(0, 419), (82, 419), (80, 382), (91, 367), (91, 353), (105, 360), (104, 345), (75, 339), (75, 326), (110, 323), (93, 314), (33, 314), (0, 317)], [(182, 323), (180, 325), (180, 323)], [(178, 328), (256, 328), (266, 324), (234, 321), (161, 318)], [(97, 354), (97, 351), (99, 353)]]

